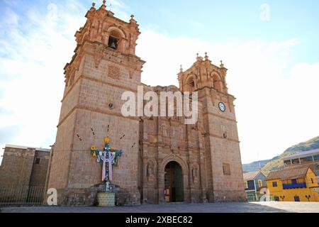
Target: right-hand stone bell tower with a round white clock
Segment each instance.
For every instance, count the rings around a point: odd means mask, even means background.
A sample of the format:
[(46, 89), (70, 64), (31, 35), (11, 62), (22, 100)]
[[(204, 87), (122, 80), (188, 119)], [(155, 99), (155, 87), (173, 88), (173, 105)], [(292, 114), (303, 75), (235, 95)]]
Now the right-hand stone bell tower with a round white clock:
[(235, 97), (228, 93), (227, 69), (197, 54), (196, 62), (178, 74), (181, 92), (198, 92), (198, 123), (203, 138), (208, 201), (245, 201)]

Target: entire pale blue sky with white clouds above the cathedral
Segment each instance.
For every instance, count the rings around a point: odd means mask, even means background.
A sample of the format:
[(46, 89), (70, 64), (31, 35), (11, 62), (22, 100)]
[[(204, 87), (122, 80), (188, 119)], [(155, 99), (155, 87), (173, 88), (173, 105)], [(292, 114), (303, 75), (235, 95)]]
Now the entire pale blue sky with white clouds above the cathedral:
[[(97, 7), (101, 1), (96, 1)], [(319, 135), (319, 1), (108, 0), (140, 24), (142, 82), (177, 82), (196, 53), (224, 61), (242, 162)], [(55, 143), (74, 33), (91, 1), (0, 0), (0, 146)], [(2, 153), (2, 150), (0, 151)], [(0, 158), (1, 159), (1, 158)]]

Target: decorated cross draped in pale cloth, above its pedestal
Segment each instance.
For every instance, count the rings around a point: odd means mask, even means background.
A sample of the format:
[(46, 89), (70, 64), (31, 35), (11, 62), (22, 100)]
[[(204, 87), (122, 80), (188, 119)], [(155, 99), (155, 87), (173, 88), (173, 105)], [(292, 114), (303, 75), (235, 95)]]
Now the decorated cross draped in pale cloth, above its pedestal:
[(118, 165), (118, 158), (123, 154), (123, 150), (111, 150), (108, 137), (104, 138), (104, 144), (103, 151), (91, 145), (91, 155), (96, 157), (96, 162), (102, 162), (102, 182), (111, 182), (113, 165)]

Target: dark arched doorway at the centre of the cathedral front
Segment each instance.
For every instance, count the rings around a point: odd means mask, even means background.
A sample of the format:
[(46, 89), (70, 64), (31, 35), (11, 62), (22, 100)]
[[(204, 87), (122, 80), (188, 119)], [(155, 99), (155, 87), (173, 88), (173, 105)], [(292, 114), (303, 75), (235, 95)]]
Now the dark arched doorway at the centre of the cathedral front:
[(164, 175), (164, 199), (165, 202), (184, 201), (184, 182), (181, 165), (177, 162), (169, 162), (165, 166)]

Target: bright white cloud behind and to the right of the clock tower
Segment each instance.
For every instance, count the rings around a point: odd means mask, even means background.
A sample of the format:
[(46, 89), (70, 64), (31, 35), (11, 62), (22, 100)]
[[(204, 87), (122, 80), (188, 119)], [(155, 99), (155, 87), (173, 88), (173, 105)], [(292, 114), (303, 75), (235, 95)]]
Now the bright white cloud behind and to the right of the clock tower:
[(215, 65), (223, 59), (229, 69), (230, 93), (237, 97), (242, 160), (251, 162), (272, 158), (290, 145), (319, 135), (319, 89), (315, 88), (319, 63), (291, 66), (290, 51), (295, 45), (296, 38), (206, 43), (146, 31), (140, 35), (137, 53), (147, 61), (142, 82), (151, 85), (178, 85), (179, 65), (184, 70), (190, 67), (196, 52), (202, 56), (208, 52)]

